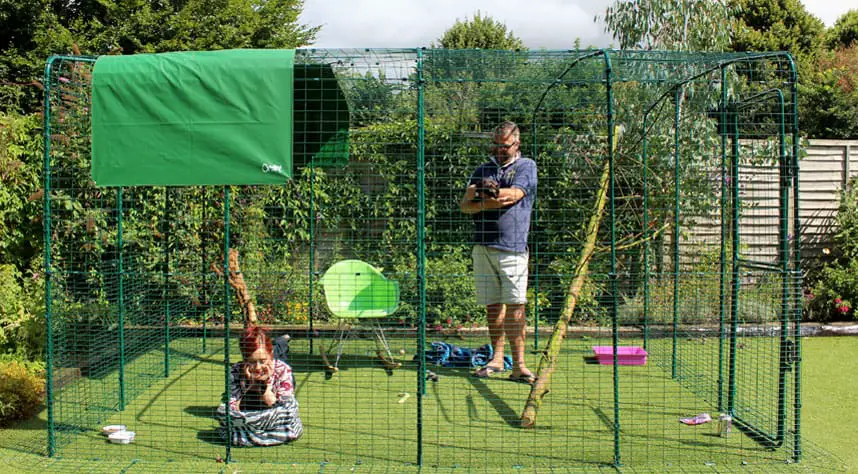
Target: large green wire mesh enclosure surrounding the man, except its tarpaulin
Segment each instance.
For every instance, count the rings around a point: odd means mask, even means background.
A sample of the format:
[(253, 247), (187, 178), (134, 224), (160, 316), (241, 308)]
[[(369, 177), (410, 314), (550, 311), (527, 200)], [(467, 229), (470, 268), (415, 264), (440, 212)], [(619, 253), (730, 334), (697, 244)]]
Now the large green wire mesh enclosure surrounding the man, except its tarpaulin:
[[(48, 67), (46, 454), (801, 460), (788, 56), (298, 50), (290, 180), (133, 187), (89, 177), (93, 61)], [(229, 409), (246, 326), (273, 435)]]

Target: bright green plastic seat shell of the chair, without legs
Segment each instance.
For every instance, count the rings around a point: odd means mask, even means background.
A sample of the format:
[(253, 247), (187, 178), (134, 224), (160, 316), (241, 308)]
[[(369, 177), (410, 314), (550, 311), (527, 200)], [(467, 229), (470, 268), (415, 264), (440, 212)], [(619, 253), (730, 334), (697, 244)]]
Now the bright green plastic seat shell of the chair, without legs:
[(321, 282), (328, 309), (338, 318), (383, 318), (399, 307), (399, 282), (360, 260), (331, 265)]

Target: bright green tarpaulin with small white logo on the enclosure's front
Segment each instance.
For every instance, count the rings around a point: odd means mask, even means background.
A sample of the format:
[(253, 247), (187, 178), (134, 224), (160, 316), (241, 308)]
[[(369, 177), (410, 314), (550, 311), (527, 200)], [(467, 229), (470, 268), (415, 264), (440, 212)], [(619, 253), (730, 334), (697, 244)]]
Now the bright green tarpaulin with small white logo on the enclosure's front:
[(277, 184), (292, 175), (294, 50), (102, 56), (98, 186)]

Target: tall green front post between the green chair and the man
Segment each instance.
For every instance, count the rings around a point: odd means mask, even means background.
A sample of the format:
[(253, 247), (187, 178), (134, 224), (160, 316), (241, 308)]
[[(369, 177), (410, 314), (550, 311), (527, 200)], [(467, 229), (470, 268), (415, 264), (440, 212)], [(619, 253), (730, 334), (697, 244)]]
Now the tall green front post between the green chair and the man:
[(417, 465), (423, 466), (423, 396), (426, 394), (426, 157), (423, 48), (417, 50)]

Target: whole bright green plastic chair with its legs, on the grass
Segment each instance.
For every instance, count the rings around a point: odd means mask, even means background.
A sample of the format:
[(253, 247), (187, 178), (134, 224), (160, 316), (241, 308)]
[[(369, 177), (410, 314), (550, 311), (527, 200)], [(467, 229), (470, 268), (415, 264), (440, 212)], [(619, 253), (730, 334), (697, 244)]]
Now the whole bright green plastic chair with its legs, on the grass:
[[(337, 357), (330, 363), (324, 344), (319, 352), (329, 372), (339, 370), (345, 341), (351, 328), (371, 320), (376, 340), (376, 355), (388, 371), (400, 367), (390, 352), (379, 318), (385, 318), (399, 308), (399, 282), (388, 280), (381, 271), (360, 260), (343, 260), (331, 265), (321, 278), (328, 311), (337, 319)], [(332, 343), (333, 346), (334, 343)]]

